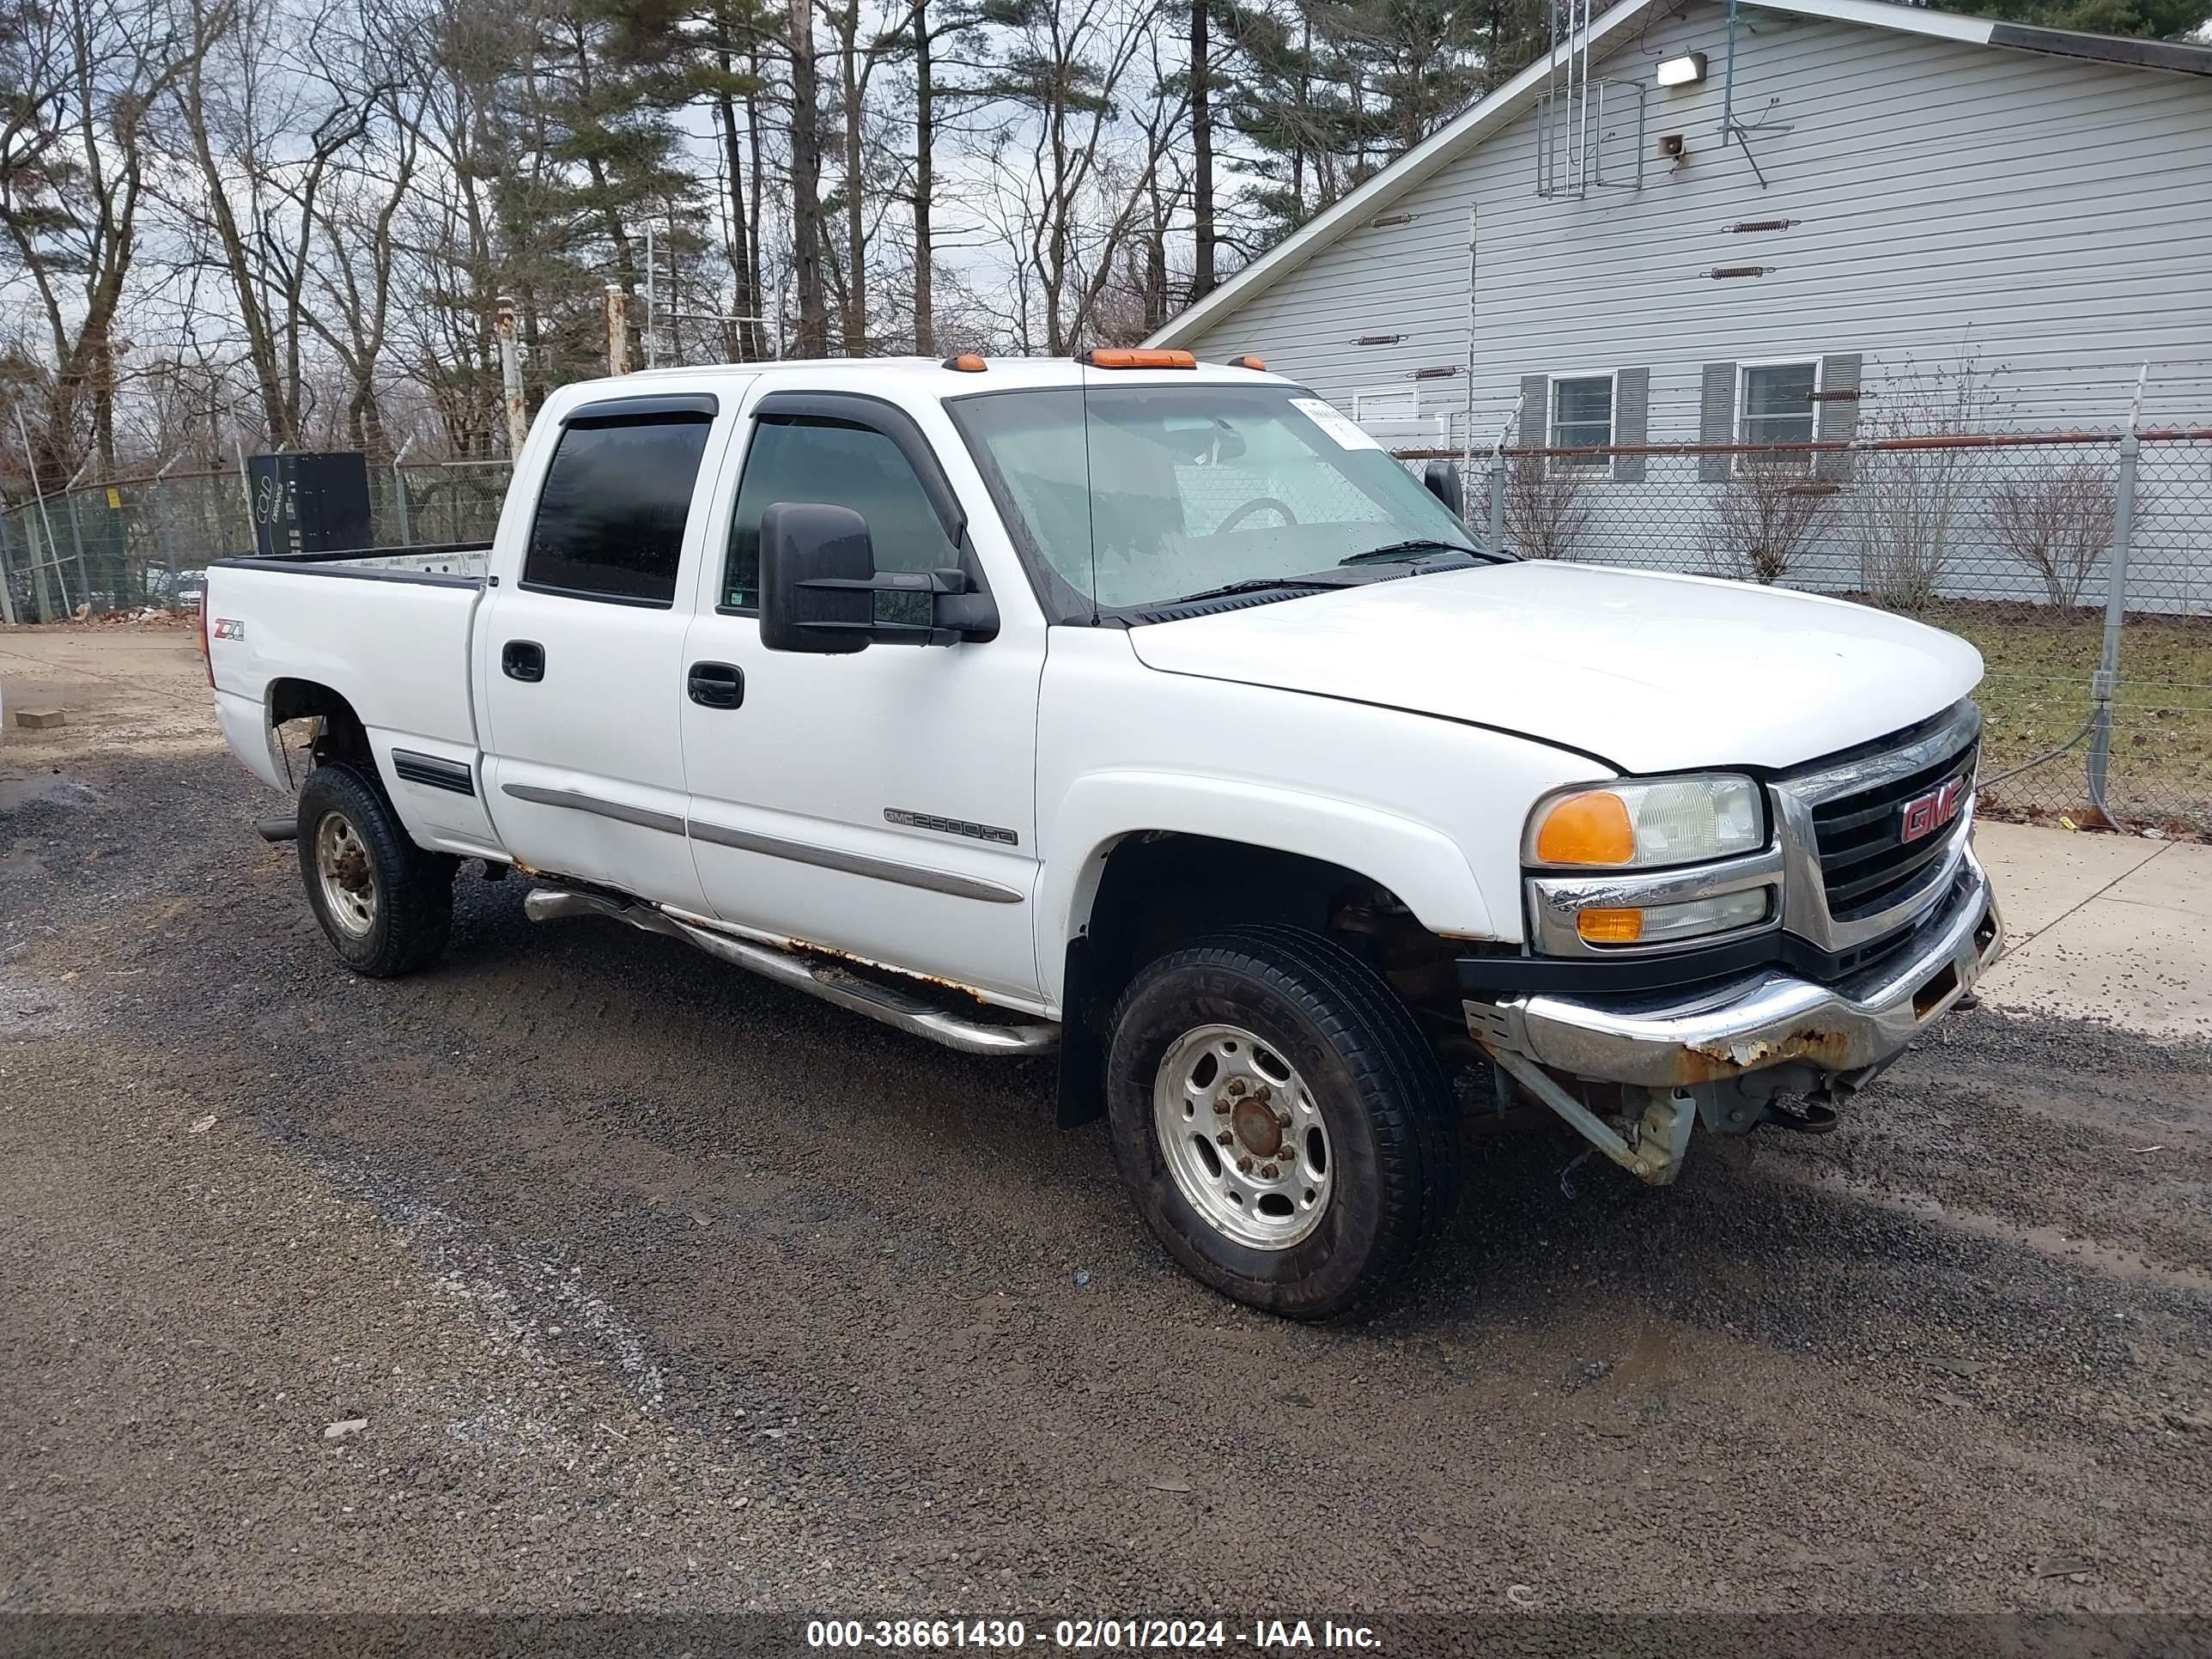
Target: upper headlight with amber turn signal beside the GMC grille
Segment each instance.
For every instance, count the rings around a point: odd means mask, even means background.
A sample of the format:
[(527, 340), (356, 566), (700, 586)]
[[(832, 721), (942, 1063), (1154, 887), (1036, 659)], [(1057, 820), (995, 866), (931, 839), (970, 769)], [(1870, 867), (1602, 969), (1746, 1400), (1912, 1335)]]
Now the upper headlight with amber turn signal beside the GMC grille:
[(1661, 869), (1767, 845), (1759, 785), (1714, 772), (1621, 779), (1553, 796), (1528, 814), (1524, 858), (1553, 869)]

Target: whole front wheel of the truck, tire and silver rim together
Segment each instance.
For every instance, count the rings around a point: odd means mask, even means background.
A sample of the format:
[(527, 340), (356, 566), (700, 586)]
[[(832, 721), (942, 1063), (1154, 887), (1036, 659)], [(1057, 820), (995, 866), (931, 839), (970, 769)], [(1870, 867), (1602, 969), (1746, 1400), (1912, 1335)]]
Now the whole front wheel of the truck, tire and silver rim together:
[(1115, 1161), (1197, 1279), (1290, 1318), (1398, 1283), (1458, 1190), (1451, 1095), (1411, 1011), (1287, 927), (1146, 967), (1106, 1060)]

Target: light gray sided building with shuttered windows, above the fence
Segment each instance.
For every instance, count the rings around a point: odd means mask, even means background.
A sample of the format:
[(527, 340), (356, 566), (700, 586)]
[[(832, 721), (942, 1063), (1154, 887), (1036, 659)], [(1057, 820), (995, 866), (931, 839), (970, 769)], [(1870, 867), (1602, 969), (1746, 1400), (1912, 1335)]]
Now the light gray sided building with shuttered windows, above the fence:
[[(2115, 431), (2143, 365), (2146, 425), (2212, 427), (2212, 49), (1885, 0), (1626, 0), (1582, 40), (1152, 343), (1256, 354), (1394, 447)], [(1586, 555), (1734, 467), (1588, 469)], [(2146, 509), (2174, 577), (2141, 602), (2212, 608), (2201, 498)], [(1840, 542), (1790, 580), (1851, 588)], [(1681, 535), (1637, 562), (1699, 568)], [(1997, 564), (1971, 591), (2039, 593)]]

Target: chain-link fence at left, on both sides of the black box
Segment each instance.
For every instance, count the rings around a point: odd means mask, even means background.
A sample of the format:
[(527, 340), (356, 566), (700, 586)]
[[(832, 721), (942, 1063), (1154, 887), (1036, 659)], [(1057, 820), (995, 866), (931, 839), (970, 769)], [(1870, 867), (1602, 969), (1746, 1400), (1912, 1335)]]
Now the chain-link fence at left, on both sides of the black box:
[[(369, 469), (376, 546), (489, 542), (507, 460)], [(0, 622), (64, 622), (199, 597), (212, 560), (254, 551), (252, 498), (237, 471), (77, 484), (0, 509)]]

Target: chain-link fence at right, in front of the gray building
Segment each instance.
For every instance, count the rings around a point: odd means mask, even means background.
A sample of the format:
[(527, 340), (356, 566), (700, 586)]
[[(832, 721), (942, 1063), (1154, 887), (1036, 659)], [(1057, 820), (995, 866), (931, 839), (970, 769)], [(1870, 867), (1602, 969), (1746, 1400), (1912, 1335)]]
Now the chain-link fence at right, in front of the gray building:
[(1834, 593), (1964, 635), (1989, 664), (1989, 810), (2212, 834), (2212, 429), (1498, 447), (1471, 467), (1469, 524), (1524, 557)]

